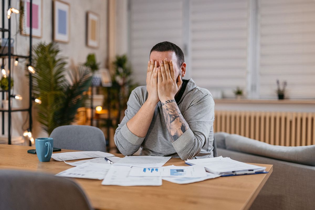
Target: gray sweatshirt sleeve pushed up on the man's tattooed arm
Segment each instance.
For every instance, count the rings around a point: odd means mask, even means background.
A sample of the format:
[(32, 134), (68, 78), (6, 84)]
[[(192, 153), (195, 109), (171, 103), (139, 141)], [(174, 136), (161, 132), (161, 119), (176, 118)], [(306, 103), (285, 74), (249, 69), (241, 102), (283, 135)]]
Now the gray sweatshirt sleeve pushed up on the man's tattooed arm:
[(202, 99), (194, 100), (189, 108), (182, 113), (189, 128), (172, 143), (182, 160), (197, 156), (208, 137), (214, 122), (214, 100), (210, 94)]

